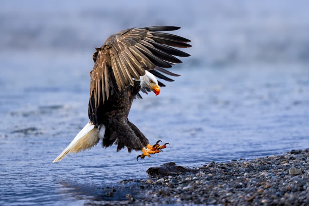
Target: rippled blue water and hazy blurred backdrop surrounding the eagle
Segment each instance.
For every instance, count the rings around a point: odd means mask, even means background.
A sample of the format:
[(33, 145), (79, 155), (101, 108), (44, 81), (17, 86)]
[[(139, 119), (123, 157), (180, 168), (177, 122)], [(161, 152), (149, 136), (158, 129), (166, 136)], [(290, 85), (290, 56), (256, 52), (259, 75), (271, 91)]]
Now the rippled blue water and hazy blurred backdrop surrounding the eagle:
[[(147, 178), (150, 166), (308, 148), (307, 1), (2, 1), (0, 7), (0, 204), (82, 205), (109, 198), (98, 187)], [(135, 100), (129, 119), (150, 143), (171, 146), (137, 162), (139, 152), (97, 145), (52, 164), (88, 122), (94, 47), (122, 29), (154, 25), (182, 27), (171, 33), (192, 40), (184, 49), (191, 57), (171, 69), (182, 76), (159, 96)]]

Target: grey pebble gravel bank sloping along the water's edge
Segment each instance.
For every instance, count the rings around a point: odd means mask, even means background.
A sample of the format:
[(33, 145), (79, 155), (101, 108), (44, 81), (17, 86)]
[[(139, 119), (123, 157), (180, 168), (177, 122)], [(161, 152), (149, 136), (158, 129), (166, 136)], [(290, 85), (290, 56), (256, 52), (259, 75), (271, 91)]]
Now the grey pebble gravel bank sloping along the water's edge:
[(138, 192), (126, 194), (125, 201), (100, 204), (309, 205), (309, 149), (192, 169), (198, 171), (123, 180), (124, 188), (131, 183)]

